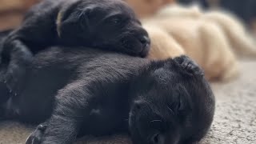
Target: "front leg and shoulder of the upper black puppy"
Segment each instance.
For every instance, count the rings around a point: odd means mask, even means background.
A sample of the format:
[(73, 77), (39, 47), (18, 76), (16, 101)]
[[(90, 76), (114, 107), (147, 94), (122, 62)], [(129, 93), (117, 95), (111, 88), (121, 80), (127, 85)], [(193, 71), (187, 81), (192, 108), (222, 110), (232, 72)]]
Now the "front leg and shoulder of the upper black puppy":
[[(47, 1), (48, 2), (48, 1)], [(22, 78), (26, 74), (26, 66), (30, 65), (33, 54), (50, 46), (55, 38), (52, 29), (55, 20), (52, 18), (56, 12), (40, 10), (31, 12), (18, 29), (13, 30), (3, 39), (2, 63), (9, 64), (6, 72), (6, 85), (10, 91), (19, 93)]]

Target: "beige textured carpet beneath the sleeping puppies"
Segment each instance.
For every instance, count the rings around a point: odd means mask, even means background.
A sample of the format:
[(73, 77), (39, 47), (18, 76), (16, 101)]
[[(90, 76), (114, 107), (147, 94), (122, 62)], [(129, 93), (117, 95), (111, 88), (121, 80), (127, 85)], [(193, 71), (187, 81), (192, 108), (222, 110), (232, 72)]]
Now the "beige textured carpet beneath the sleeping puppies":
[[(241, 62), (241, 77), (213, 84), (217, 98), (214, 124), (202, 144), (256, 144), (256, 62)], [(32, 126), (0, 122), (0, 144), (22, 144)], [(86, 144), (127, 144), (127, 136), (87, 137)], [(80, 142), (79, 142), (80, 143)]]

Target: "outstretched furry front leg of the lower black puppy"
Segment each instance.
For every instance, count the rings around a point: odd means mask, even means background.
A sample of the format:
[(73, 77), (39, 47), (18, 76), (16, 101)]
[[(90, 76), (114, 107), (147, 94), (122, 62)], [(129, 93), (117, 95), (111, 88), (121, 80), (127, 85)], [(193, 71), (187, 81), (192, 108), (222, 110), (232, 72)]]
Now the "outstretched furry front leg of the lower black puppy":
[(73, 83), (60, 90), (51, 118), (38, 126), (26, 144), (73, 143), (82, 122), (88, 120), (90, 99), (94, 98), (86, 88), (81, 83)]

